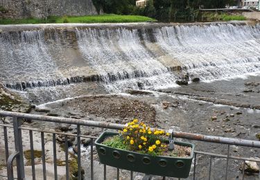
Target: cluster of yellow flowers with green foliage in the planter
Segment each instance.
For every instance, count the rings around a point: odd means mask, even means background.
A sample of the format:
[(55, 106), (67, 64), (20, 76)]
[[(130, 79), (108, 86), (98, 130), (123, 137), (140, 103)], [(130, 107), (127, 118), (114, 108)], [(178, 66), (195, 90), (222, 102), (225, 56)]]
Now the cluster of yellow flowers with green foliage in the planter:
[(125, 128), (120, 133), (124, 139), (124, 143), (132, 151), (160, 154), (167, 150), (167, 145), (164, 143), (163, 137), (169, 134), (163, 130), (150, 129), (146, 124), (139, 123), (137, 119), (125, 125)]

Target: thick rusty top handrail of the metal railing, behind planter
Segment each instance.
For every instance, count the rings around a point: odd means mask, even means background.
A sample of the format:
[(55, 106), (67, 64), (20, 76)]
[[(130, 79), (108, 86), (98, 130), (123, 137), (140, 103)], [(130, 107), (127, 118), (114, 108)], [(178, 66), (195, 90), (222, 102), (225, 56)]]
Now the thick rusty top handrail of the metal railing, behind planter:
[[(98, 121), (93, 121), (93, 120), (59, 118), (59, 117), (42, 116), (42, 115), (35, 115), (35, 114), (22, 114), (22, 113), (17, 113), (17, 112), (10, 112), (10, 111), (0, 111), (0, 115), (33, 119), (33, 120), (42, 120), (42, 121), (54, 122), (54, 123), (67, 123), (67, 124), (73, 124), (73, 125), (101, 127), (101, 128), (107, 128), (107, 129), (123, 129), (123, 127), (125, 127), (125, 125), (119, 125), (116, 123), (104, 123), (104, 122), (98, 122)], [(173, 136), (175, 136), (176, 138), (186, 138), (186, 139), (190, 139), (190, 140), (204, 141), (204, 142), (209, 142), (209, 143), (221, 143), (221, 144), (227, 144), (227, 145), (241, 145), (241, 146), (246, 146), (246, 147), (259, 147), (260, 148), (260, 141), (250, 141), (250, 140), (239, 139), (239, 138), (205, 136), (202, 134), (191, 134), (191, 133), (187, 133), (187, 132), (173, 132)]]

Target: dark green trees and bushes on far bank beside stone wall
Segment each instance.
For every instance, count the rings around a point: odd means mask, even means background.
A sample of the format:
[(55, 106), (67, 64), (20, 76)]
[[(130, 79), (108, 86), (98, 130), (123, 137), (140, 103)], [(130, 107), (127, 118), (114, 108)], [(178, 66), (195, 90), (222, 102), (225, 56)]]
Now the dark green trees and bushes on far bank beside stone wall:
[[(118, 15), (142, 15), (159, 21), (200, 21), (199, 8), (235, 6), (234, 0), (148, 0), (145, 7), (136, 7), (134, 0), (92, 0), (98, 12)], [(221, 18), (220, 18), (221, 19)], [(228, 21), (227, 17), (222, 18)], [(241, 17), (232, 19), (240, 20)]]

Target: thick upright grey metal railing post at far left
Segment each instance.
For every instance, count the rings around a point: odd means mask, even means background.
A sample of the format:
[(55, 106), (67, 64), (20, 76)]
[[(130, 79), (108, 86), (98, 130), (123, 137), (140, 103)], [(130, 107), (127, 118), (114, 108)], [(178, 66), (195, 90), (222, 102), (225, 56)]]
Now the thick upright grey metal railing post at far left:
[(12, 123), (14, 127), (14, 135), (15, 135), (15, 151), (19, 154), (16, 157), (17, 163), (17, 179), (24, 180), (24, 151), (23, 151), (23, 144), (22, 144), (22, 137), (21, 137), (21, 129), (19, 126), (21, 125), (21, 121), (18, 120), (17, 117), (12, 118)]

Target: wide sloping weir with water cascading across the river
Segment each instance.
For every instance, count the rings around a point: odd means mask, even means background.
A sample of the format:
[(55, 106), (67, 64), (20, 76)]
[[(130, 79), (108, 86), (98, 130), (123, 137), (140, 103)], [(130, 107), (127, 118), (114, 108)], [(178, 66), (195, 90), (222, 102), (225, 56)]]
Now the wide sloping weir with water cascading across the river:
[(204, 81), (259, 73), (259, 24), (32, 27), (1, 27), (0, 81), (6, 87), (98, 81), (118, 93), (176, 87), (182, 71)]

